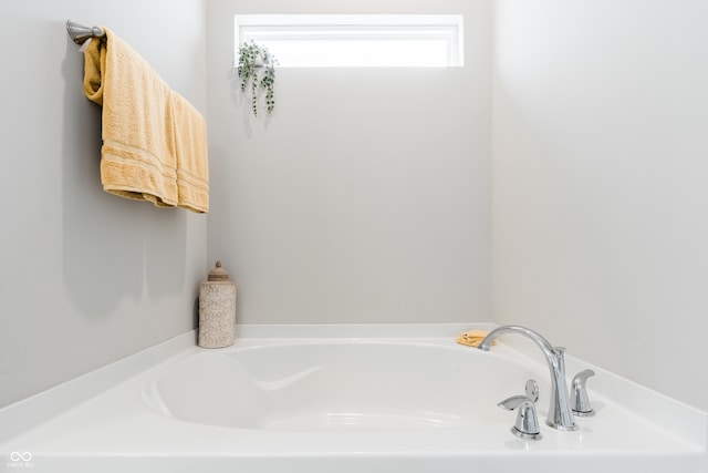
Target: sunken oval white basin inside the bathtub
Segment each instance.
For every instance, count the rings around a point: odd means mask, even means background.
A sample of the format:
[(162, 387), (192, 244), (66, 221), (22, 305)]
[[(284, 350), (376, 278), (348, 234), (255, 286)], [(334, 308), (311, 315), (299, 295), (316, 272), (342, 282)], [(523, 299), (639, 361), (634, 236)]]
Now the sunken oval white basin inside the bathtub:
[[(386, 431), (509, 422), (501, 400), (548, 372), (475, 349), (372, 342), (207, 351), (146, 385), (163, 415), (274, 431)], [(541, 367), (542, 368), (542, 367)]]

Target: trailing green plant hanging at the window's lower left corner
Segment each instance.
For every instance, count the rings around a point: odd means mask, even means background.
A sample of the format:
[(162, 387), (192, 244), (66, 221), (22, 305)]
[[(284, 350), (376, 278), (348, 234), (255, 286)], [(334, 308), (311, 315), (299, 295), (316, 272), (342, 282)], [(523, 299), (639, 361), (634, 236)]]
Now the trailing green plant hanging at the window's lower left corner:
[(268, 115), (275, 107), (273, 89), (275, 85), (275, 65), (278, 60), (267, 48), (253, 41), (239, 47), (238, 74), (241, 80), (241, 92), (249, 93), (251, 110), (258, 116), (258, 92), (266, 90), (266, 111)]

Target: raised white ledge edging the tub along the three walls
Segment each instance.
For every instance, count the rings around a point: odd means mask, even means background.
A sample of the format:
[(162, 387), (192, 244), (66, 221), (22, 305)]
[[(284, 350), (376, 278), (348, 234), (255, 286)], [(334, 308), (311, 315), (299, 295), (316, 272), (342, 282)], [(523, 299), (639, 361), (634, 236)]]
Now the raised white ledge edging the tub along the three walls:
[[(249, 345), (258, 346), (259, 340), (272, 343), (274, 339), (283, 339), (290, 343), (295, 339), (454, 339), (465, 330), (490, 330), (497, 327), (490, 322), (472, 323), (353, 323), (353, 325), (239, 325), (237, 337)], [(44, 392), (27, 398), (0, 409), (0, 446), (17, 436), (27, 433), (51, 419), (119, 385), (132, 378), (162, 363), (171, 363), (190, 354), (204, 351), (196, 346), (196, 330), (177, 336), (133, 356), (107, 364), (73, 380), (66, 381)], [(513, 351), (533, 358), (533, 350), (524, 340), (507, 337), (500, 340)], [(229, 348), (219, 349), (229, 350)], [(596, 371), (596, 382), (591, 387), (594, 391), (627, 411), (649, 419), (652, 422), (670, 431), (683, 440), (708, 451), (708, 413), (681, 403), (667, 395), (653, 391), (644, 385), (622, 378), (602, 368), (593, 367), (566, 354), (569, 377), (585, 368)]]

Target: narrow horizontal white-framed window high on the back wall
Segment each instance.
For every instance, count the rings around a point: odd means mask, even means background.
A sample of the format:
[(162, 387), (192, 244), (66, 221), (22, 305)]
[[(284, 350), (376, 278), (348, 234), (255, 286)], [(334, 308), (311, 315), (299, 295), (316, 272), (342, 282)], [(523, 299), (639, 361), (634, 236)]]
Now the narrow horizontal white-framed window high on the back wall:
[(251, 40), (282, 68), (462, 65), (461, 16), (236, 16), (236, 43)]

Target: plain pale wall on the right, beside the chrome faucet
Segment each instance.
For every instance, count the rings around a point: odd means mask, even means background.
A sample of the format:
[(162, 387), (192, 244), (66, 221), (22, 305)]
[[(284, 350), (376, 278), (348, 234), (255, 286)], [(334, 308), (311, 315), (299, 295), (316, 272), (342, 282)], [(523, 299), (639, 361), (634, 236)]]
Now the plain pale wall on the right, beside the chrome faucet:
[(494, 14), (494, 321), (708, 410), (708, 3)]

